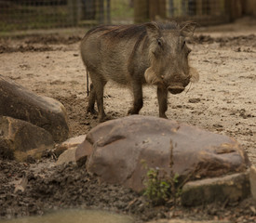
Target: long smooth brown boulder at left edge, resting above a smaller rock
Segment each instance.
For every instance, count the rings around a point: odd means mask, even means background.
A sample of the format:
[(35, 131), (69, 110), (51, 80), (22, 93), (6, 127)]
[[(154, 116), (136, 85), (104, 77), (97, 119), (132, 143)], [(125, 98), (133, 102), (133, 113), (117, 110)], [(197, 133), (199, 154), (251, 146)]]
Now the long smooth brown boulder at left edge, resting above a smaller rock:
[(0, 75), (0, 115), (46, 129), (55, 141), (68, 138), (67, 116), (61, 102), (38, 96)]

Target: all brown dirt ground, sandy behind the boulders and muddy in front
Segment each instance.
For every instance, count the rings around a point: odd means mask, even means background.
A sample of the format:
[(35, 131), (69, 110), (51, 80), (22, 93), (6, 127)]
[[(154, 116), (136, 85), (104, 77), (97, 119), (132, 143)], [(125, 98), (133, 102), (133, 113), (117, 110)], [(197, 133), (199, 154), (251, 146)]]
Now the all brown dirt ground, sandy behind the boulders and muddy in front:
[[(83, 31), (33, 33), (0, 39), (0, 74), (60, 100), (68, 113), (70, 137), (87, 134), (98, 125), (97, 116), (86, 112), (86, 71), (78, 50), (83, 35)], [(191, 65), (200, 80), (182, 94), (169, 95), (168, 118), (236, 138), (251, 164), (256, 164), (256, 20), (200, 28), (189, 46)], [(155, 91), (153, 86), (143, 88), (142, 115), (158, 115)], [(131, 102), (128, 89), (106, 85), (104, 105), (112, 118), (126, 116)], [(168, 203), (153, 208), (131, 190), (99, 185), (84, 169), (51, 167), (50, 157), (49, 152), (36, 164), (0, 161), (0, 217), (42, 215), (48, 209), (82, 205), (128, 213), (138, 222), (160, 217), (256, 220), (251, 199), (233, 206), (183, 208)], [(35, 171), (37, 165), (42, 167)], [(24, 174), (28, 189), (14, 193), (13, 180)]]

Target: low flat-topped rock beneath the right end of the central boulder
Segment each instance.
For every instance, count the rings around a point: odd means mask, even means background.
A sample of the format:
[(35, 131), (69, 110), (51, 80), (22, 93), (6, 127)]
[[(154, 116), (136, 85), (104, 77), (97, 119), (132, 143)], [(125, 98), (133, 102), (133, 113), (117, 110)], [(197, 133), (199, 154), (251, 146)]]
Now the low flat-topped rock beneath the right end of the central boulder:
[(213, 177), (186, 183), (182, 188), (182, 204), (234, 203), (250, 195), (249, 172)]

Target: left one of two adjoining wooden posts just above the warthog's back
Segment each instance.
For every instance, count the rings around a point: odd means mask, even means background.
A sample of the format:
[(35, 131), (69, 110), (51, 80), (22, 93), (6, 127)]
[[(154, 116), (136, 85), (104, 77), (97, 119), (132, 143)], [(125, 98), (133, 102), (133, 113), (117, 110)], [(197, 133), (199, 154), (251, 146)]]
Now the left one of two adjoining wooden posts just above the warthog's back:
[(134, 0), (134, 22), (141, 23), (149, 20), (148, 0)]

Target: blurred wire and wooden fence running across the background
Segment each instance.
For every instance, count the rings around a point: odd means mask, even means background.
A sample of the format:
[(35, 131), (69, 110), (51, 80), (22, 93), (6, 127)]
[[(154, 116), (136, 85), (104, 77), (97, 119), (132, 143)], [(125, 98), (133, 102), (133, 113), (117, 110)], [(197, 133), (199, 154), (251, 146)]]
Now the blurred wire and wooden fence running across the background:
[(195, 20), (224, 23), (256, 15), (256, 0), (0, 0), (0, 31)]

